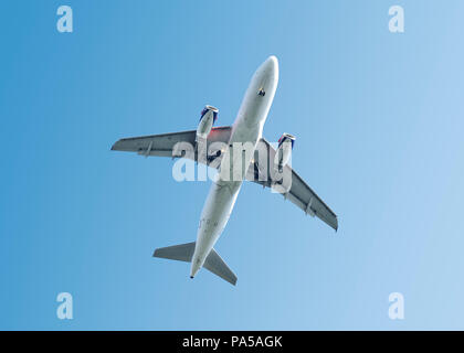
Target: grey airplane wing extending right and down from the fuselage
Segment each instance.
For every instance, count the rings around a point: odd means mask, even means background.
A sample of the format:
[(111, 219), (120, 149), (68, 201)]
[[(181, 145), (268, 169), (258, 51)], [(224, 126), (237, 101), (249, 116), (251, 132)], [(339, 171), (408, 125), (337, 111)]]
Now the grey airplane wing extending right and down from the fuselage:
[[(331, 211), (329, 206), (325, 204), (325, 202), (289, 165), (285, 165), (283, 171), (283, 174), (288, 175), (288, 178), (284, 176), (282, 182), (273, 181), (270, 171), (274, 167), (274, 158), (276, 152), (266, 139), (262, 138), (257, 142), (255, 153), (254, 162), (250, 165), (250, 169), (246, 173), (246, 179), (249, 181), (253, 181), (267, 188), (280, 186), (281, 190), (284, 190), (284, 192), (281, 192), (284, 197), (292, 201), (306, 214), (317, 216), (335, 231), (338, 229), (338, 218), (334, 211)], [(267, 165), (260, 165), (259, 154), (267, 157)]]

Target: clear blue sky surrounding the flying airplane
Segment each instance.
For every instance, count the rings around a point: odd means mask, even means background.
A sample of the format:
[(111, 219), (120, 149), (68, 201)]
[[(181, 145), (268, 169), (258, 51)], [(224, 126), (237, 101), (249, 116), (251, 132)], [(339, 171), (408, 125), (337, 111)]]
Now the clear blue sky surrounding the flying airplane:
[[(56, 9), (73, 9), (73, 33)], [(404, 8), (404, 33), (388, 10)], [(464, 329), (462, 1), (2, 1), (0, 329)], [(122, 137), (230, 125), (280, 60), (264, 127), (334, 233), (244, 184), (217, 249), (238, 286), (157, 247), (194, 240), (210, 182)], [(72, 293), (74, 319), (56, 318)], [(404, 296), (390, 320), (389, 295)]]

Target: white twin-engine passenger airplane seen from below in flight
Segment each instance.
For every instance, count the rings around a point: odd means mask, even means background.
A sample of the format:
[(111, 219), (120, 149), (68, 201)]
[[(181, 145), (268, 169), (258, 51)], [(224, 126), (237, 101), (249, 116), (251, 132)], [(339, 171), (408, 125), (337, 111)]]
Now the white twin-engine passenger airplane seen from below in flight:
[[(137, 152), (145, 157), (187, 158), (220, 171), (204, 202), (197, 240), (157, 248), (154, 253), (154, 257), (190, 263), (190, 278), (204, 267), (235, 286), (238, 277), (214, 250), (214, 245), (229, 221), (243, 180), (253, 181), (263, 188), (280, 186), (277, 193), (283, 194), (286, 200), (306, 214), (317, 216), (335, 231), (338, 229), (337, 215), (288, 163), (288, 147), (292, 151), (295, 137), (283, 133), (277, 149), (263, 138), (264, 122), (277, 82), (278, 62), (275, 56), (270, 56), (254, 73), (232, 126), (213, 127), (219, 109), (207, 105), (201, 111), (197, 130), (125, 138), (112, 147), (112, 150)], [(188, 143), (192, 149), (182, 149), (179, 152), (179, 143)], [(234, 153), (232, 146), (236, 143), (247, 143), (253, 153)], [(267, 157), (257, 158), (261, 152)], [(239, 178), (226, 178), (239, 164), (245, 167), (239, 169)], [(283, 173), (280, 178), (274, 178), (278, 172)]]

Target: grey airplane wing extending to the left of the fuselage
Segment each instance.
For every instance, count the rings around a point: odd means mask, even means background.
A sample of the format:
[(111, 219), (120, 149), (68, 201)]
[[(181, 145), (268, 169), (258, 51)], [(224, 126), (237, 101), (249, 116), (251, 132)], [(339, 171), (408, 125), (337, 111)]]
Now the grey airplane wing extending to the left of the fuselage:
[[(211, 145), (213, 142), (223, 142), (228, 143), (231, 137), (232, 127), (218, 127), (212, 128), (210, 135), (207, 139), (207, 148), (213, 148)], [(197, 153), (197, 142), (196, 142), (197, 131), (181, 131), (181, 132), (171, 132), (171, 133), (161, 133), (161, 135), (151, 135), (151, 136), (141, 136), (141, 137), (130, 137), (126, 139), (118, 140), (115, 145), (113, 145), (113, 151), (126, 151), (126, 152), (137, 152), (138, 154), (149, 157), (184, 157), (192, 159), (194, 161), (201, 161), (198, 158)], [(183, 142), (177, 145), (179, 142)], [(186, 145), (184, 145), (186, 143)], [(191, 153), (184, 151), (184, 154), (180, 154), (181, 150), (177, 150), (175, 147), (183, 147), (190, 146)], [(209, 151), (209, 156), (220, 157), (220, 152), (218, 156), (214, 149)], [(212, 162), (209, 160), (208, 162)], [(214, 161), (219, 163), (219, 161)], [(211, 165), (214, 167), (214, 165)]]

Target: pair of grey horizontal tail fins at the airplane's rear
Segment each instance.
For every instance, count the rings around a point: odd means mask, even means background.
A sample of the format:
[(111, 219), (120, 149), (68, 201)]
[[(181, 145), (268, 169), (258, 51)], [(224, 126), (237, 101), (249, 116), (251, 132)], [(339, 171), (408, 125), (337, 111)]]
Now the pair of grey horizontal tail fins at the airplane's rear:
[[(180, 244), (175, 246), (161, 247), (155, 250), (154, 257), (167, 258), (171, 260), (190, 263), (193, 257), (196, 242)], [(211, 249), (207, 259), (204, 260), (203, 267), (214, 275), (226, 280), (231, 285), (236, 284), (235, 274), (229, 268), (224, 260), (219, 254)]]

